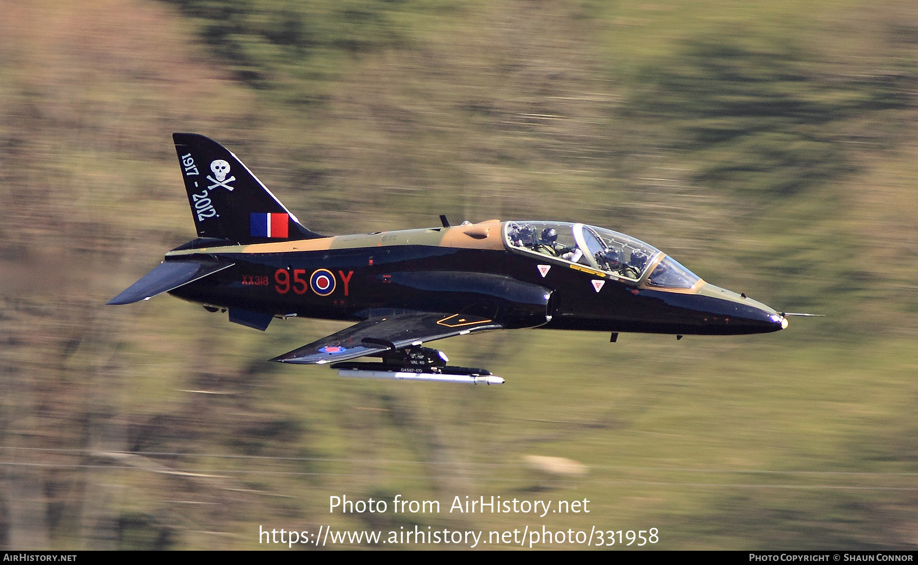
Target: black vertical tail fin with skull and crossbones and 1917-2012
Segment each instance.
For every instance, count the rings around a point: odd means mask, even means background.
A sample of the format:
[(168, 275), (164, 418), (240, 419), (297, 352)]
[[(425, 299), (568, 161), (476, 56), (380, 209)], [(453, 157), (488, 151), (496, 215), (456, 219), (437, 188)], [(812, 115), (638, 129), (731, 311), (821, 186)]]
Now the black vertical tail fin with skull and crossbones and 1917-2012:
[(196, 133), (174, 133), (198, 238), (264, 243), (321, 238), (303, 227), (231, 151)]

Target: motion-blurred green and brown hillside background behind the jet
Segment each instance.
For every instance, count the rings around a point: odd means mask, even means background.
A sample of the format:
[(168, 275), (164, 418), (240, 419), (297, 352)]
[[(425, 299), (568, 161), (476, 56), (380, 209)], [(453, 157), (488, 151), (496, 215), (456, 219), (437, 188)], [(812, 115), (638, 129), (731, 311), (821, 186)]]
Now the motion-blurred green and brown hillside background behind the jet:
[[(419, 524), (914, 549), (916, 88), (907, 0), (0, 0), (0, 546)], [(320, 233), (582, 221), (827, 317), (437, 345), (499, 387), (269, 363), (344, 324), (105, 305), (194, 237), (174, 131)], [(395, 494), (443, 512), (328, 512)], [(591, 503), (446, 512), (466, 495)]]

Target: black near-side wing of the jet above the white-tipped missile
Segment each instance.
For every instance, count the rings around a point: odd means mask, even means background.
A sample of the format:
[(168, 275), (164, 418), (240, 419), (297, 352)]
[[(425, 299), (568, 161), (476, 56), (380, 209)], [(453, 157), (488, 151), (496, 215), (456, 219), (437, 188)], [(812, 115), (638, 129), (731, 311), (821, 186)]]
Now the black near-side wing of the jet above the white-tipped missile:
[(375, 316), (275, 357), (273, 361), (320, 365), (501, 327), (500, 323), (481, 316), (461, 314), (405, 312)]

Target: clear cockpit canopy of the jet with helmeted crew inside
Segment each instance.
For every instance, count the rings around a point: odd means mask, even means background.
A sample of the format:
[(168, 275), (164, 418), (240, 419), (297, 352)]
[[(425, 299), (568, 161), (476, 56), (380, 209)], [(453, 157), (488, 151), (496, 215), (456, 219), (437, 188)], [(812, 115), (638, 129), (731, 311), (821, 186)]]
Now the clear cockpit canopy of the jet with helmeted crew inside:
[(617, 231), (565, 222), (507, 222), (504, 244), (511, 250), (537, 253), (609, 272), (627, 282), (665, 288), (691, 288), (700, 279), (640, 239)]

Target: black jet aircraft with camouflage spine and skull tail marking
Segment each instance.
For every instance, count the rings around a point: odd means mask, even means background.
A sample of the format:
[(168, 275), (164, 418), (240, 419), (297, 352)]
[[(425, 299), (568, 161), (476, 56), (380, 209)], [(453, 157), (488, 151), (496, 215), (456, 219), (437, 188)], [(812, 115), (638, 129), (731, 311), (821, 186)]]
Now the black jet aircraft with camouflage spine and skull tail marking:
[[(683, 335), (777, 331), (787, 318), (666, 253), (580, 223), (488, 220), (322, 236), (213, 139), (173, 135), (197, 238), (108, 302), (168, 292), (264, 330), (277, 318), (356, 322), (274, 358), (343, 376), (497, 384), (429, 341), (542, 327)], [(352, 361), (360, 357), (379, 361)]]

